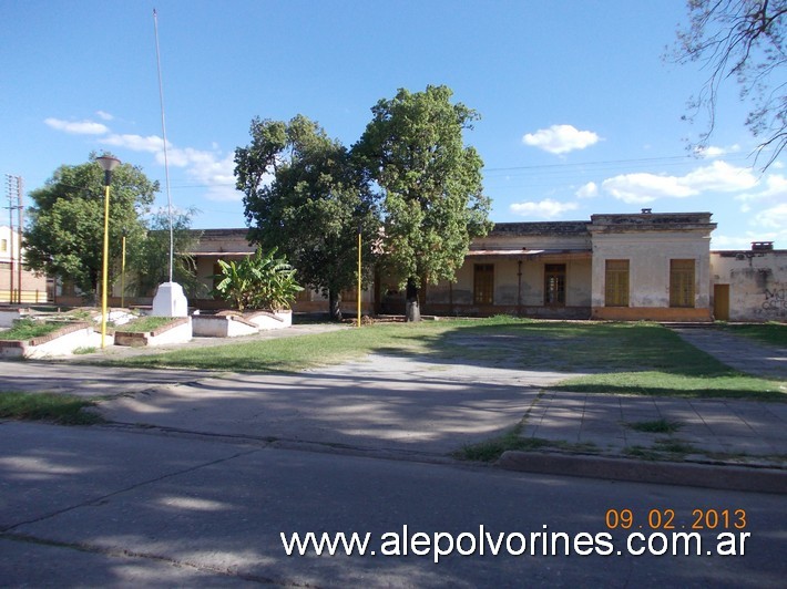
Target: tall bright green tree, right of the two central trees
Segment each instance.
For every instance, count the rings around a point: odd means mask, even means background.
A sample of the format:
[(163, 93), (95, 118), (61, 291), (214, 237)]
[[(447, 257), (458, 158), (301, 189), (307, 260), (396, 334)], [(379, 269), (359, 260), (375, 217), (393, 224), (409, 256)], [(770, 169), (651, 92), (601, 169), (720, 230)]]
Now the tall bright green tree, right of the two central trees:
[(483, 162), (462, 141), (479, 115), (451, 104), (452, 94), (447, 86), (399, 90), (372, 107), (372, 121), (354, 146), (380, 190), (384, 258), (407, 285), (410, 321), (420, 319), (422, 285), (453, 280), (470, 240), (492, 226), (481, 187)]

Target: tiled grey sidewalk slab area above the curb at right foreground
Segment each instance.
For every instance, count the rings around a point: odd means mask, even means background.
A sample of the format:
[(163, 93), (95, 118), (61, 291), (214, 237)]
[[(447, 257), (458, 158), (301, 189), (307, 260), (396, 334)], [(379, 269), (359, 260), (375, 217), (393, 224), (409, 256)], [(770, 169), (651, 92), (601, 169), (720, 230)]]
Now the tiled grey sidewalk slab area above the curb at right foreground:
[[(660, 425), (672, 431), (642, 431)], [(523, 436), (558, 451), (785, 467), (787, 403), (546, 392)]]

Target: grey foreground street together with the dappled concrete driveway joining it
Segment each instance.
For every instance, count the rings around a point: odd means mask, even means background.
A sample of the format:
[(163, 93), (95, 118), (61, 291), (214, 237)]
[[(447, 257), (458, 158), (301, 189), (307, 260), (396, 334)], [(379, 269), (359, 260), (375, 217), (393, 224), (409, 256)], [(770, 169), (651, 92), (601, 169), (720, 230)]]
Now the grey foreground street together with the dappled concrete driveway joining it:
[[(101, 411), (113, 420), (0, 422), (0, 585), (763, 588), (781, 587), (787, 575), (783, 495), (514, 473), (447, 457), (510, 428), (563, 374), (394, 358), (296, 375), (0, 366), (0, 390), (109, 397)], [(697, 523), (706, 526), (699, 555), (627, 554), (628, 534), (666, 534), (653, 536), (661, 549)], [(280, 535), (309, 531), (369, 534), (376, 554), (287, 556)], [(531, 556), (531, 540), (540, 547), (538, 535), (553, 531), (571, 555)], [(708, 556), (720, 533), (735, 534), (745, 554)], [(394, 551), (392, 534), (409, 538), (407, 555), (384, 554)], [(462, 535), (468, 554), (427, 550), (436, 534)], [(740, 534), (750, 535), (743, 547)], [(447, 548), (448, 536), (439, 537)], [(645, 538), (632, 547), (646, 547)], [(525, 554), (509, 554), (522, 540)]]

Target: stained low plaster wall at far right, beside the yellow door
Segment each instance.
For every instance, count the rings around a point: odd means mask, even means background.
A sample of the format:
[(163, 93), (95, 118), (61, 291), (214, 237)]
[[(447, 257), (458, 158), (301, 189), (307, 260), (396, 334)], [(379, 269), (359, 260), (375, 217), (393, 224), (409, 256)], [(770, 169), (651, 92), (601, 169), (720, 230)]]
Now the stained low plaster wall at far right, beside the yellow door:
[(713, 285), (729, 285), (730, 321), (787, 320), (787, 250), (713, 251)]

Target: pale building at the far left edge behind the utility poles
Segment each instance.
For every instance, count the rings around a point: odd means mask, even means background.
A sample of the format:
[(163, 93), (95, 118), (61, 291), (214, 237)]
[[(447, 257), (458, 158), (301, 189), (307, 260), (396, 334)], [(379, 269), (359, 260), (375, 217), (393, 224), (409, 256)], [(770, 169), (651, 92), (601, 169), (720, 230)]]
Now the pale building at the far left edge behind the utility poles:
[(19, 231), (0, 225), (0, 302), (47, 302), (47, 278), (23, 268), (20, 237)]

